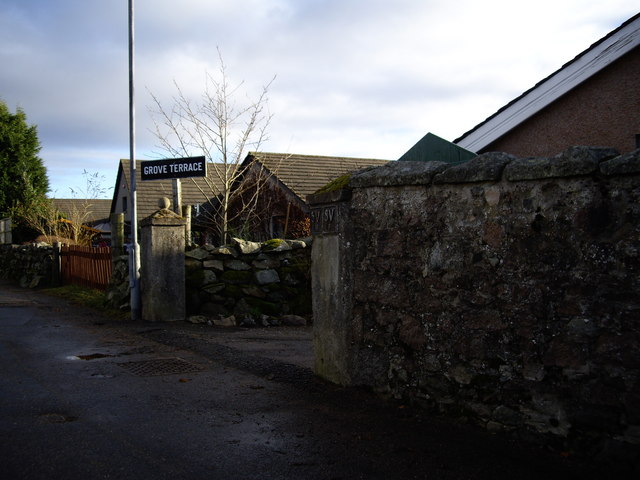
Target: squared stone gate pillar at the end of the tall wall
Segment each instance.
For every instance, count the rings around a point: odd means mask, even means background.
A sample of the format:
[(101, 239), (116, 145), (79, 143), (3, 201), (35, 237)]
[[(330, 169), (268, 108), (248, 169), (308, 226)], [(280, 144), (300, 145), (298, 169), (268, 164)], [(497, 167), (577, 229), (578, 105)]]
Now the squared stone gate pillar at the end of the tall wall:
[(350, 190), (310, 195), (311, 286), (315, 373), (352, 383), (352, 259)]

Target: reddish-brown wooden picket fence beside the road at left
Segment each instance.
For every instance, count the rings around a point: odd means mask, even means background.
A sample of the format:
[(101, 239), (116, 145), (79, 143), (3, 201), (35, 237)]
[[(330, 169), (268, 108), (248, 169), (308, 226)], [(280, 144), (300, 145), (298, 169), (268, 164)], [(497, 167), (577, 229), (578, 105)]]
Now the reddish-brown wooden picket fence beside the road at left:
[(111, 279), (111, 248), (60, 247), (60, 277), (63, 284), (105, 290)]

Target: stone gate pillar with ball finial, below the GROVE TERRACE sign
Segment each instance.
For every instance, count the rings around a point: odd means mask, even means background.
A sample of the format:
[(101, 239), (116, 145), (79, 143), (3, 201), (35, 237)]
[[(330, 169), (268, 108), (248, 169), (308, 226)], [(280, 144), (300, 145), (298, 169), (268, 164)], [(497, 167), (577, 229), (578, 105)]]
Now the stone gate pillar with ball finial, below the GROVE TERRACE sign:
[(185, 220), (163, 208), (140, 222), (140, 294), (142, 319), (151, 322), (184, 320)]

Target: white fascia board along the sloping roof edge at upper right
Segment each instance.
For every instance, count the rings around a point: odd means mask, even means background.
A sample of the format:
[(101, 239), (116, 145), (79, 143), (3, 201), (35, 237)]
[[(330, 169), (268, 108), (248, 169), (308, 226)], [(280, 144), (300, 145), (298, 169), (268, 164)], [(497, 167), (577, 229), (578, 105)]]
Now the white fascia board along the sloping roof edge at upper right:
[(640, 18), (585, 51), (456, 142), (477, 152), (640, 44)]

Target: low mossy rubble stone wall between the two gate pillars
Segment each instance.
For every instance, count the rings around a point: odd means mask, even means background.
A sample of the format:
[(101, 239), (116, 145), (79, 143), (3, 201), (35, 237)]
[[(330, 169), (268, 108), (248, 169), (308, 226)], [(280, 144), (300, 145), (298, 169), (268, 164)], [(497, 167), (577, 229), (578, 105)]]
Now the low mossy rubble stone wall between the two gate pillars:
[(234, 239), (224, 247), (187, 252), (191, 320), (199, 316), (200, 321), (252, 325), (279, 322), (287, 315), (310, 317), (309, 246), (310, 240)]

